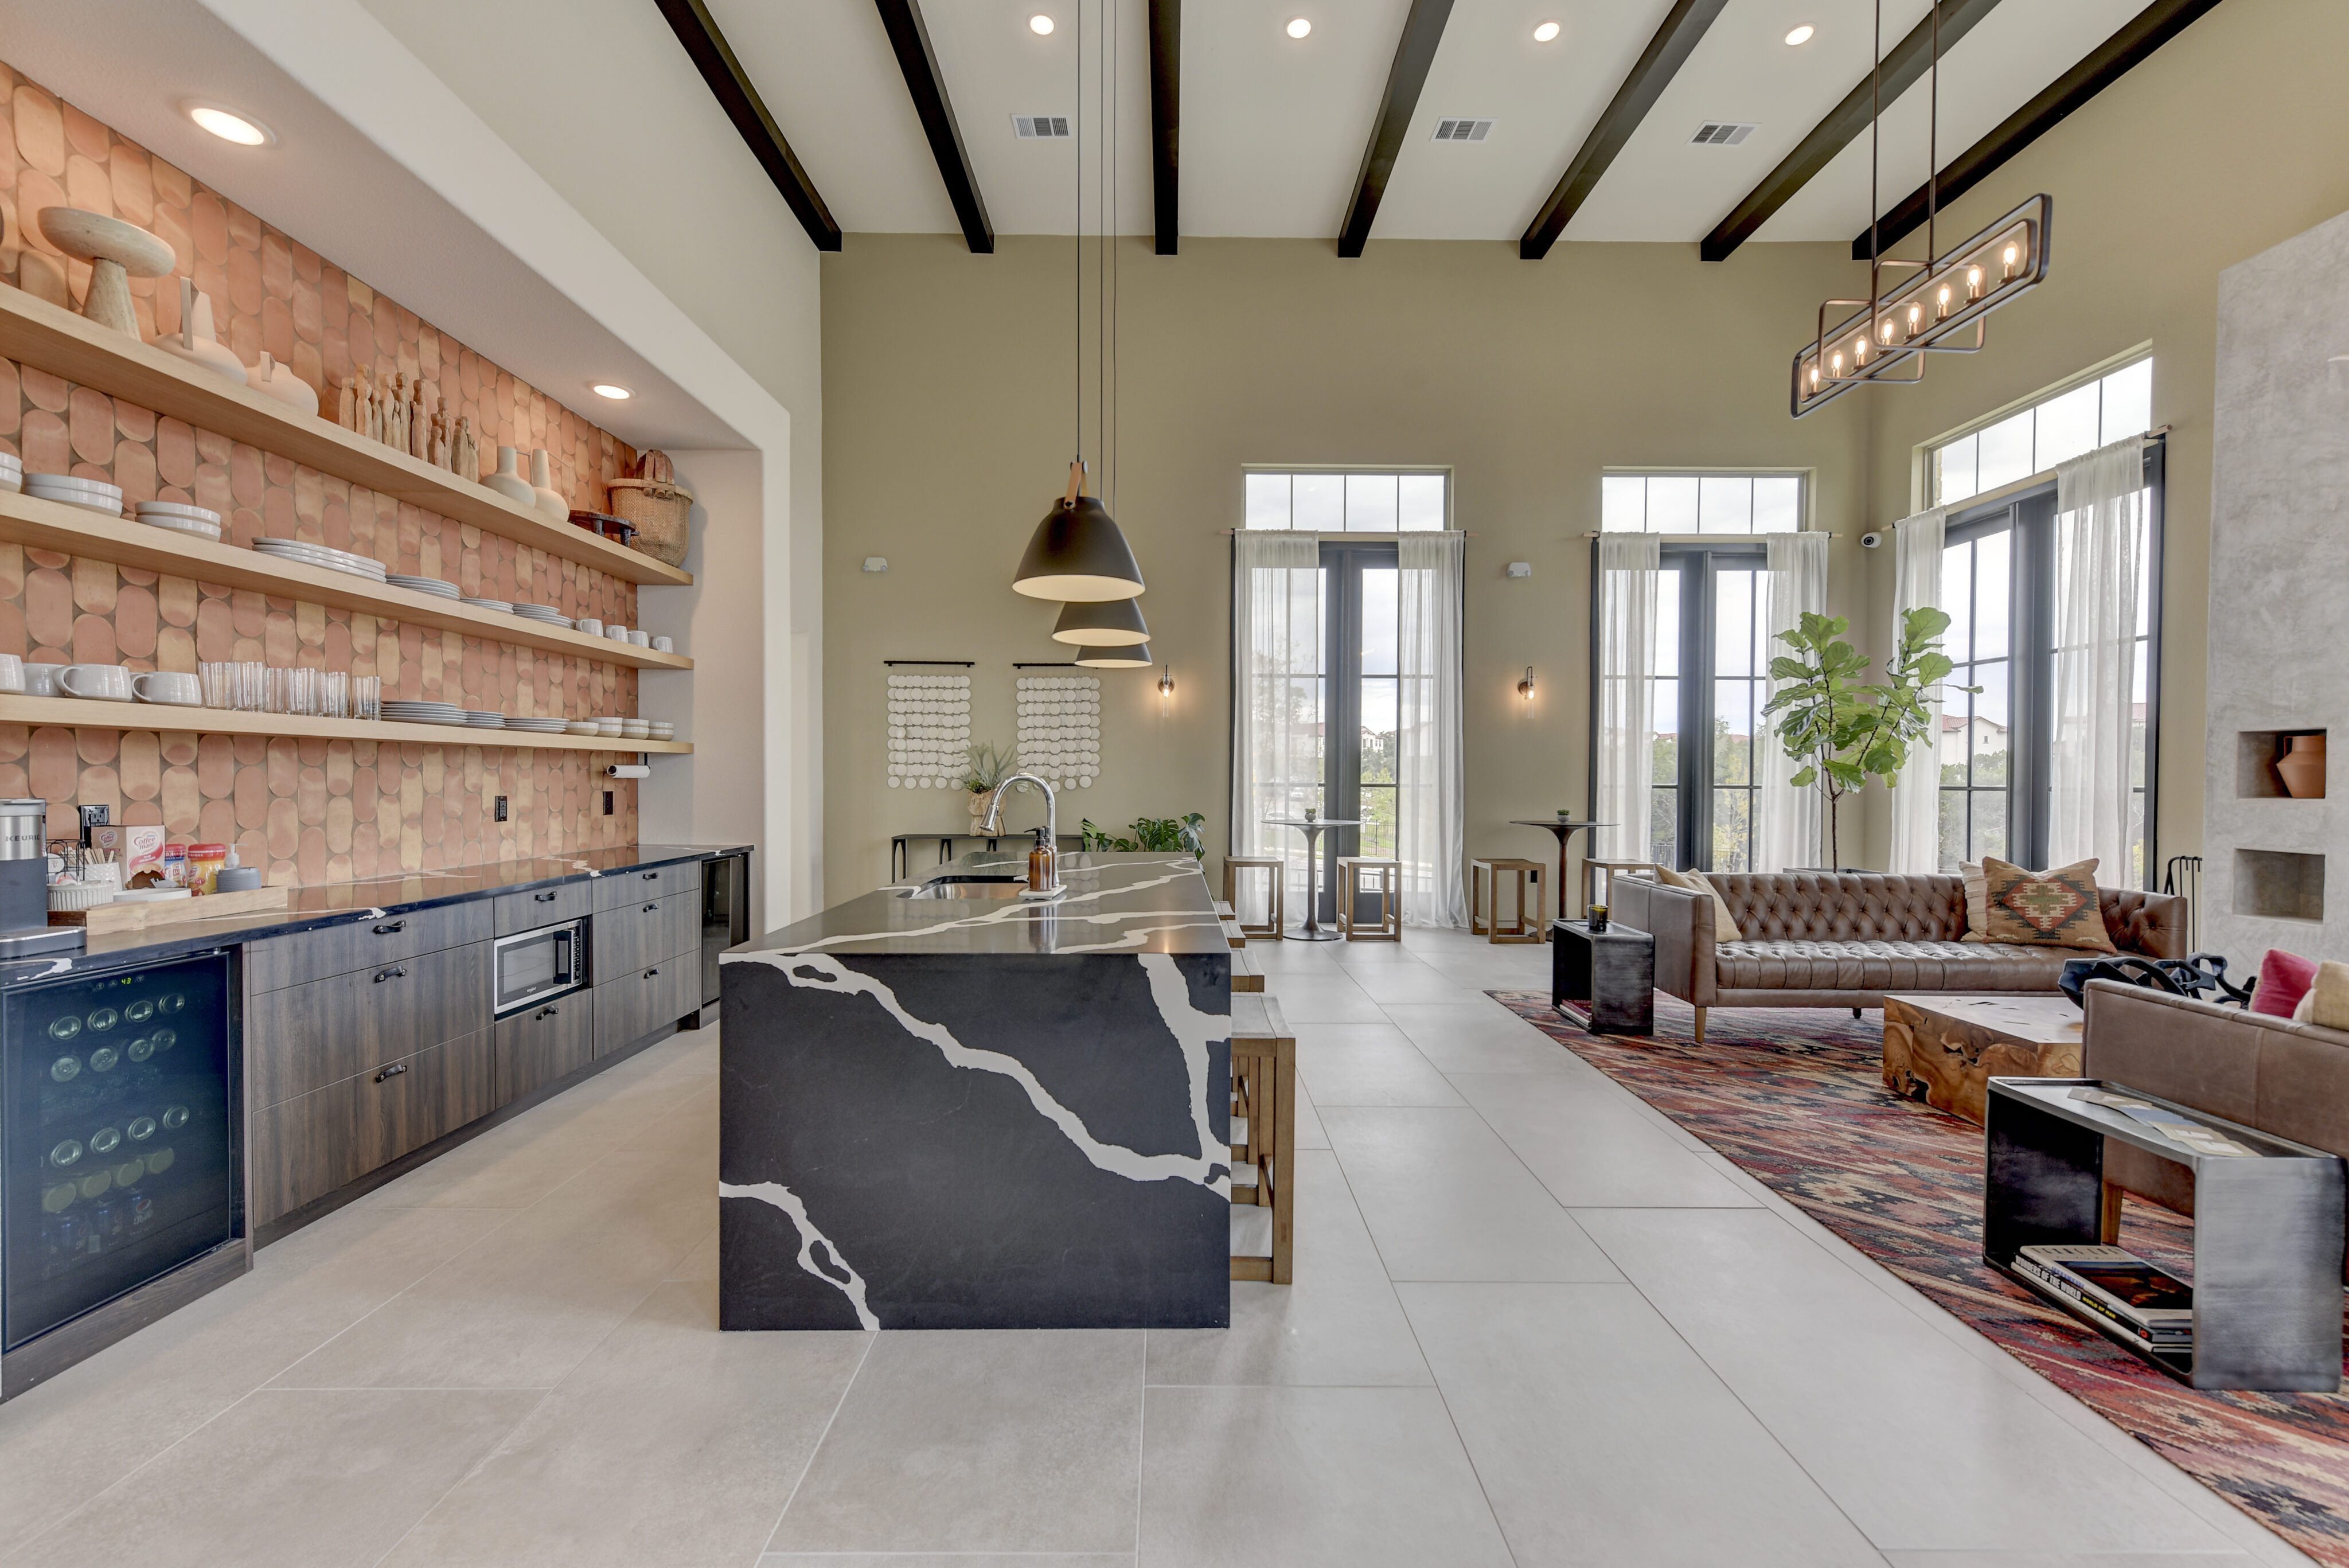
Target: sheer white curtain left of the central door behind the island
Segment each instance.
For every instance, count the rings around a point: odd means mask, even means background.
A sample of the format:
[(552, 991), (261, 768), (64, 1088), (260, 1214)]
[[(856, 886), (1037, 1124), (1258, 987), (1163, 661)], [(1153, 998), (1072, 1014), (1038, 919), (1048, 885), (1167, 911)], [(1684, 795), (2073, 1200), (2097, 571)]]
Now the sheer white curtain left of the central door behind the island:
[(1280, 856), (1292, 907), (1306, 891), (1304, 835), (1266, 827), (1322, 804), (1320, 538), (1231, 538), (1231, 853)]

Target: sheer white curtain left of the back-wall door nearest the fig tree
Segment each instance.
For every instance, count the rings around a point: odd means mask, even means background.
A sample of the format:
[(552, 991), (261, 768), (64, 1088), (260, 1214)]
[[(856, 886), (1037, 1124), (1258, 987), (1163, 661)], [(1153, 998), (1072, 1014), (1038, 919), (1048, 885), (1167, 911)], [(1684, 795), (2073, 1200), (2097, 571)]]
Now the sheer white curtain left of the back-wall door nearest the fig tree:
[[(1590, 816), (1602, 860), (1649, 858), (1656, 785), (1656, 571), (1654, 534), (1600, 534), (1600, 755)], [(1557, 889), (1560, 900), (1564, 889)]]

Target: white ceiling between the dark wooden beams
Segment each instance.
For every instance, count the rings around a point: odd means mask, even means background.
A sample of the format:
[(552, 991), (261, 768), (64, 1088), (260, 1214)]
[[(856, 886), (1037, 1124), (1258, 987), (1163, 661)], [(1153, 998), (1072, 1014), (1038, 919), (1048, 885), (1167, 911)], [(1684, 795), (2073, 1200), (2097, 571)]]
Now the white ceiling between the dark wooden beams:
[[(1884, 40), (1929, 0), (1886, 0)], [(2145, 0), (2006, 0), (1943, 61), (1940, 158), (1971, 146)], [(1409, 0), (1189, 0), (1182, 233), (1334, 237), (1353, 197)], [(1515, 240), (1614, 99), (1670, 0), (1456, 0), (1374, 237)], [(846, 230), (954, 233), (937, 165), (871, 0), (712, 0), (768, 110)], [(1031, 14), (1055, 19), (1038, 38)], [(1144, 0), (933, 0), (923, 16), (996, 233), (1071, 233), (1076, 153), (1017, 141), (1010, 118), (1071, 113), (1085, 28), (1085, 228), (1099, 223), (1097, 45), (1118, 33), (1120, 233), (1151, 228)], [(1290, 16), (1313, 33), (1290, 40)], [(1712, 230), (1867, 75), (1872, 0), (1729, 0), (1567, 228), (1569, 240), (1691, 242)], [(1536, 45), (1539, 21), (1560, 21)], [(1818, 28), (1788, 47), (1797, 24)], [(1926, 87), (1886, 106), (1884, 205), (1924, 181)], [(1482, 143), (1438, 118), (1492, 118)], [(1759, 129), (1689, 146), (1705, 120)], [(1867, 223), (1867, 141), (1849, 146), (1757, 240), (1851, 240)]]

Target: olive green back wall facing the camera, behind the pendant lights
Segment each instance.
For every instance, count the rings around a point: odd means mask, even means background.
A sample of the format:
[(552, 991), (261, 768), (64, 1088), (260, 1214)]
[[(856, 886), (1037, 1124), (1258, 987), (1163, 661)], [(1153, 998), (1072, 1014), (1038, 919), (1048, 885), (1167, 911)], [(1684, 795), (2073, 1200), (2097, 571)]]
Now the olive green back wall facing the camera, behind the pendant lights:
[[(888, 875), (888, 835), (965, 820), (886, 788), (883, 658), (972, 658), (972, 733), (1012, 738), (1012, 661), (1064, 656), (1010, 574), (1073, 442), (1071, 242), (850, 235), (824, 256), (824, 865), (839, 900)], [(1118, 252), (1125, 294), (1116, 515), (1151, 583), (1156, 672), (1102, 672), (1104, 771), (1078, 816), (1229, 816), (1231, 541), (1247, 463), (1449, 465), (1468, 529), (1468, 853), (1541, 856), (1508, 818), (1588, 806), (1588, 529), (1600, 473), (1811, 468), (1813, 527), (1856, 543), (1867, 402), (1804, 421), (1785, 374), (1839, 247), (1184, 240)], [(1090, 350), (1088, 350), (1090, 353)], [(1090, 409), (1090, 357), (1088, 357)], [(888, 557), (864, 574), (867, 555)], [(1532, 581), (1503, 576), (1532, 562)], [(1849, 609), (1849, 607), (1846, 607)], [(1515, 682), (1536, 670), (1536, 698)], [(1034, 806), (1024, 806), (1034, 813)], [(1015, 816), (1027, 823), (1029, 816)]]

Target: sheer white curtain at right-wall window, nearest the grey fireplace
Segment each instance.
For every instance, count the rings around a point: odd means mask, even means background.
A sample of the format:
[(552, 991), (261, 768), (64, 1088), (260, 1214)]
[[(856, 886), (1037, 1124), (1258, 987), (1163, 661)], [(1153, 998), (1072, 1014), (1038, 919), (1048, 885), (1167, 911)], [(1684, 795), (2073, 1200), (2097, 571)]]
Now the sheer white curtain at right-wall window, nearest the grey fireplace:
[(2131, 437), (2055, 470), (2055, 712), (2048, 865), (2095, 856), (2107, 886), (2138, 886), (2138, 616), (2152, 496)]

